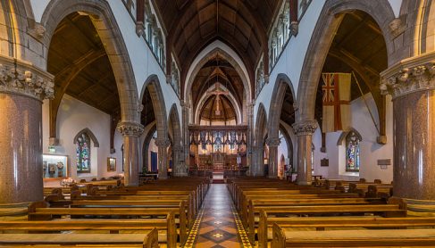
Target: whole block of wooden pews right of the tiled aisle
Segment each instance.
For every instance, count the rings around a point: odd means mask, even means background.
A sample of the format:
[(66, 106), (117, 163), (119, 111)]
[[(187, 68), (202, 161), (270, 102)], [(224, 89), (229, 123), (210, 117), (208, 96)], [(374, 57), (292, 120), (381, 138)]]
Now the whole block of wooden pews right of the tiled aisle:
[(391, 185), (337, 182), (316, 187), (231, 178), (227, 187), (251, 244), (258, 247), (435, 246), (435, 218), (408, 217), (401, 199), (366, 194), (369, 187)]

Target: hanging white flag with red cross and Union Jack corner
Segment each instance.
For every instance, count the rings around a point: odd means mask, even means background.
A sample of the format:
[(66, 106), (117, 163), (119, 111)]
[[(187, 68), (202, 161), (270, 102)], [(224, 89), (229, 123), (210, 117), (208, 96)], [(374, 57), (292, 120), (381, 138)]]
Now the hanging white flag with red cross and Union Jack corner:
[(322, 73), (322, 132), (350, 129), (350, 73)]

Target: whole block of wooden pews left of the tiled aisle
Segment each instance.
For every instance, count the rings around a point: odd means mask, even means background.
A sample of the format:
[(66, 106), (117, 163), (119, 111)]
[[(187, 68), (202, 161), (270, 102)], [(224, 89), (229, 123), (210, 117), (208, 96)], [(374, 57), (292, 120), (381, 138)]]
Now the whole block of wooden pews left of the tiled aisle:
[(30, 203), (28, 220), (0, 221), (0, 247), (179, 247), (209, 183), (171, 178), (123, 186), (115, 180), (46, 189), (44, 201)]

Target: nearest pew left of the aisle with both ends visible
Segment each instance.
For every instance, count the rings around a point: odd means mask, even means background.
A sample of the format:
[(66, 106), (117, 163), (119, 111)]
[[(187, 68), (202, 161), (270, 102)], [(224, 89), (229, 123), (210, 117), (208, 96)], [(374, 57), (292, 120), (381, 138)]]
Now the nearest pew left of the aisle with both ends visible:
[(48, 208), (44, 203), (38, 202), (30, 204), (28, 219), (30, 221), (54, 219), (62, 216), (71, 216), (71, 218), (78, 216), (164, 216), (167, 221), (168, 246), (175, 247), (173, 245), (177, 243), (177, 227), (174, 215), (177, 211), (180, 211), (180, 208)]

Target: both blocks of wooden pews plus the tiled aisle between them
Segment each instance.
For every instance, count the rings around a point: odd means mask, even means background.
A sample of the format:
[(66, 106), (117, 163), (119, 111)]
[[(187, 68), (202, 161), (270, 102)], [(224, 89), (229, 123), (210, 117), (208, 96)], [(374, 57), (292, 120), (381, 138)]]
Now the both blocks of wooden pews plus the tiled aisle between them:
[[(318, 179), (171, 178), (46, 187), (0, 220), (0, 247), (433, 247), (435, 216), (392, 185)], [(394, 230), (394, 231), (393, 231)]]

